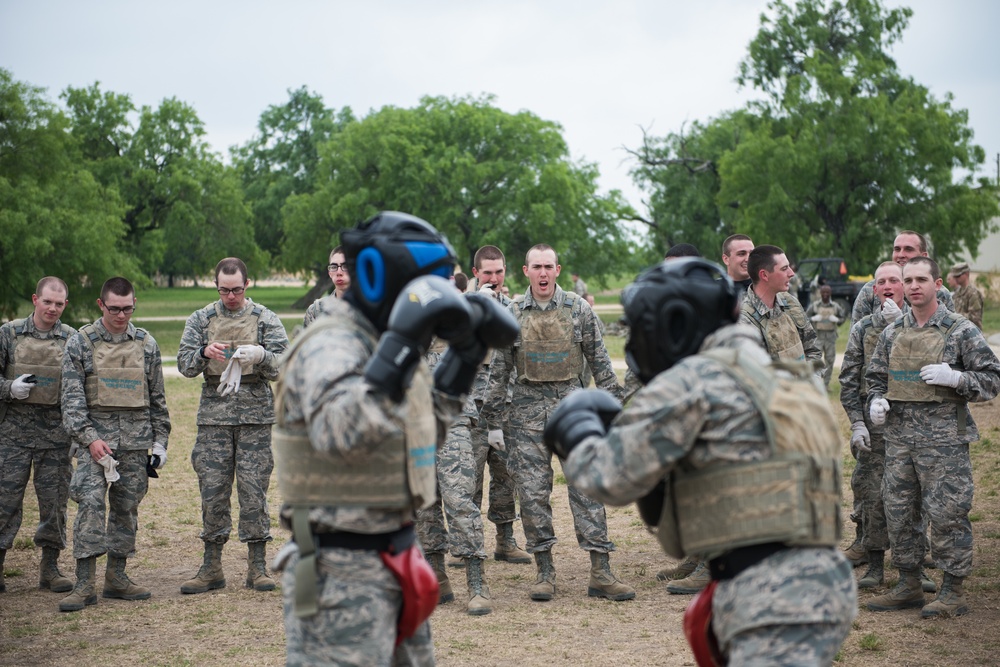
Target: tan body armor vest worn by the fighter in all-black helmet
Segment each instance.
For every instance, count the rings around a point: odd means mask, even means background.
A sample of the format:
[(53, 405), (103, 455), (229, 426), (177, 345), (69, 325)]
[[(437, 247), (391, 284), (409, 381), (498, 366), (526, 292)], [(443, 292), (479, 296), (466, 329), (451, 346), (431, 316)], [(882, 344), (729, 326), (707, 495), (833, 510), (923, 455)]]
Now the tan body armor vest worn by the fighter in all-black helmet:
[(707, 558), (754, 544), (834, 546), (840, 539), (840, 431), (811, 366), (776, 375), (735, 350), (703, 353), (736, 380), (767, 431), (771, 456), (674, 471), (657, 538), (667, 554)]

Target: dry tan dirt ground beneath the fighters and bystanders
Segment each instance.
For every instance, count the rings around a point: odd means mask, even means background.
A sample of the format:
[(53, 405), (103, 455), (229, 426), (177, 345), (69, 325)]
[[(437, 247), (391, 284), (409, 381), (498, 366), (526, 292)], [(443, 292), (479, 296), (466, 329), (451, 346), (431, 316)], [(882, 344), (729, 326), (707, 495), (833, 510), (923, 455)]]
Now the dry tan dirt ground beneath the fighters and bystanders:
[[(246, 548), (235, 539), (223, 556), (225, 589), (203, 595), (180, 593), (181, 582), (195, 573), (201, 559), (198, 486), (189, 462), (197, 392), (191, 381), (167, 382), (174, 420), (170, 459), (161, 478), (151, 480), (140, 508), (138, 555), (129, 562), (132, 578), (152, 589), (152, 599), (99, 598), (96, 606), (82, 612), (60, 613), (57, 605), (63, 594), (37, 588), (40, 550), (30, 540), (37, 509), (29, 489), (24, 525), (7, 555), (7, 592), (0, 594), (0, 664), (283, 664), (281, 593), (243, 588)], [(842, 416), (839, 404), (835, 408)], [(875, 614), (862, 608), (837, 664), (1000, 664), (1000, 410), (997, 402), (991, 402), (974, 406), (973, 413), (983, 440), (972, 450), (977, 486), (972, 513), (975, 569), (967, 582), (971, 613), (927, 621), (919, 610)], [(846, 443), (847, 423), (842, 421)], [(847, 459), (849, 470), (849, 454)], [(844, 488), (846, 517), (850, 499), (846, 481)], [(271, 501), (273, 514), (279, 503), (273, 483)], [(235, 508), (235, 497), (233, 504)], [(589, 560), (575, 544), (564, 483), (557, 484), (553, 505), (561, 540), (554, 552), (556, 598), (546, 603), (528, 599), (533, 565), (490, 560), (486, 574), (495, 610), (471, 617), (464, 613), (464, 571), (450, 568), (456, 601), (439, 607), (432, 617), (438, 664), (693, 665), (681, 630), (690, 598), (671, 596), (656, 581), (655, 573), (671, 561), (645, 531), (635, 509), (608, 508), (611, 537), (618, 545), (612, 566), (637, 591), (635, 600), (615, 603), (587, 597)], [(74, 510), (70, 502), (70, 539)], [(853, 538), (853, 524), (846, 525), (844, 545)], [(287, 538), (277, 527), (274, 535), (269, 557)], [(492, 552), (493, 535), (486, 539)], [(523, 545), (523, 535), (519, 541)], [(61, 566), (72, 577), (70, 553), (64, 552)], [(103, 568), (101, 559), (99, 575)], [(939, 572), (931, 575), (940, 582)], [(894, 580), (893, 572), (890, 584)], [(881, 592), (862, 592), (861, 606)]]

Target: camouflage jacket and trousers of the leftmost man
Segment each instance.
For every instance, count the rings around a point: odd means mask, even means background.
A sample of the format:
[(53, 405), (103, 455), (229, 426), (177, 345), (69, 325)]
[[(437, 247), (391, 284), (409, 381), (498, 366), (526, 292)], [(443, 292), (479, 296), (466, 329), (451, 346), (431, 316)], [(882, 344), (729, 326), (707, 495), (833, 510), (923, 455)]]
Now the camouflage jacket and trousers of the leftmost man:
[[(58, 345), (59, 356), (52, 360), (55, 380), (59, 379), (66, 341), (76, 333), (76, 329), (60, 321), (49, 331), (39, 331), (30, 315), (0, 326), (0, 550), (13, 546), (21, 527), (24, 491), (32, 468), (38, 498), (35, 544), (62, 550), (66, 548), (66, 503), (73, 474), (70, 441), (62, 428), (58, 386), (55, 405), (26, 403), (10, 395), (10, 385), (19, 374), (14, 364), (18, 330), (21, 337), (52, 340)], [(41, 377), (36, 380), (38, 384), (32, 393), (37, 393), (41, 383), (47, 381)]]

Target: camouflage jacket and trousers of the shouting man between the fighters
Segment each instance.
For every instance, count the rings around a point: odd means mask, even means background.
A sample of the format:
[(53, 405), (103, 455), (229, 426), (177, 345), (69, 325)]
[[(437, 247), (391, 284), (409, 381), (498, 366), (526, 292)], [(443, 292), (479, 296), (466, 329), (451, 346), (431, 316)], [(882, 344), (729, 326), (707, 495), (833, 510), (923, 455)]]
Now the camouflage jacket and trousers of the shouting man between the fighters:
[[(573, 343), (580, 346), (584, 360), (594, 372), (597, 386), (622, 397), (622, 388), (611, 367), (611, 358), (597, 325), (597, 316), (582, 298), (556, 287), (552, 300), (542, 311), (565, 308), (571, 298)], [(509, 306), (518, 324), (525, 311), (538, 305), (529, 288)], [(523, 328), (522, 328), (523, 333)], [(482, 416), (489, 429), (499, 429), (504, 421), (509, 424), (507, 441), (511, 473), (521, 496), (521, 521), (527, 539), (528, 553), (550, 551), (556, 543), (552, 527), (552, 453), (542, 443), (542, 429), (549, 414), (570, 392), (581, 388), (580, 378), (559, 382), (532, 382), (525, 378), (521, 368), (518, 348), (521, 337), (510, 348), (493, 352), (490, 363), (490, 380)], [(506, 403), (508, 384), (514, 376), (513, 396)], [(592, 552), (608, 553), (614, 544), (608, 539), (607, 517), (604, 505), (584, 496), (576, 486), (569, 486), (569, 506), (576, 527), (580, 546)]]

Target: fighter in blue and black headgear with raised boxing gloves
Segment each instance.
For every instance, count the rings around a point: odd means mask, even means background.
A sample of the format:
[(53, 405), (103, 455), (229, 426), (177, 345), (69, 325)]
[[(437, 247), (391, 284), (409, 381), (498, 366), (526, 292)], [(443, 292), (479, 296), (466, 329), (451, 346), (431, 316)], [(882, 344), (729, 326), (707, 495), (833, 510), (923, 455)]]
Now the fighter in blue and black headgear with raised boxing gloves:
[[(342, 240), (351, 289), (327, 297), (331, 316), (295, 341), (278, 383), (281, 523), (294, 538), (276, 559), (288, 664), (433, 665), (433, 607), (414, 613), (403, 593), (433, 574), (422, 559), (405, 571), (391, 562), (414, 555), (414, 513), (436, 501), (436, 445), (496, 343), (480, 336), (509, 341), (515, 326), (455, 292), (442, 277), (454, 252), (419, 218), (381, 213)], [(451, 347), (432, 385), (421, 355), (433, 333)]]

